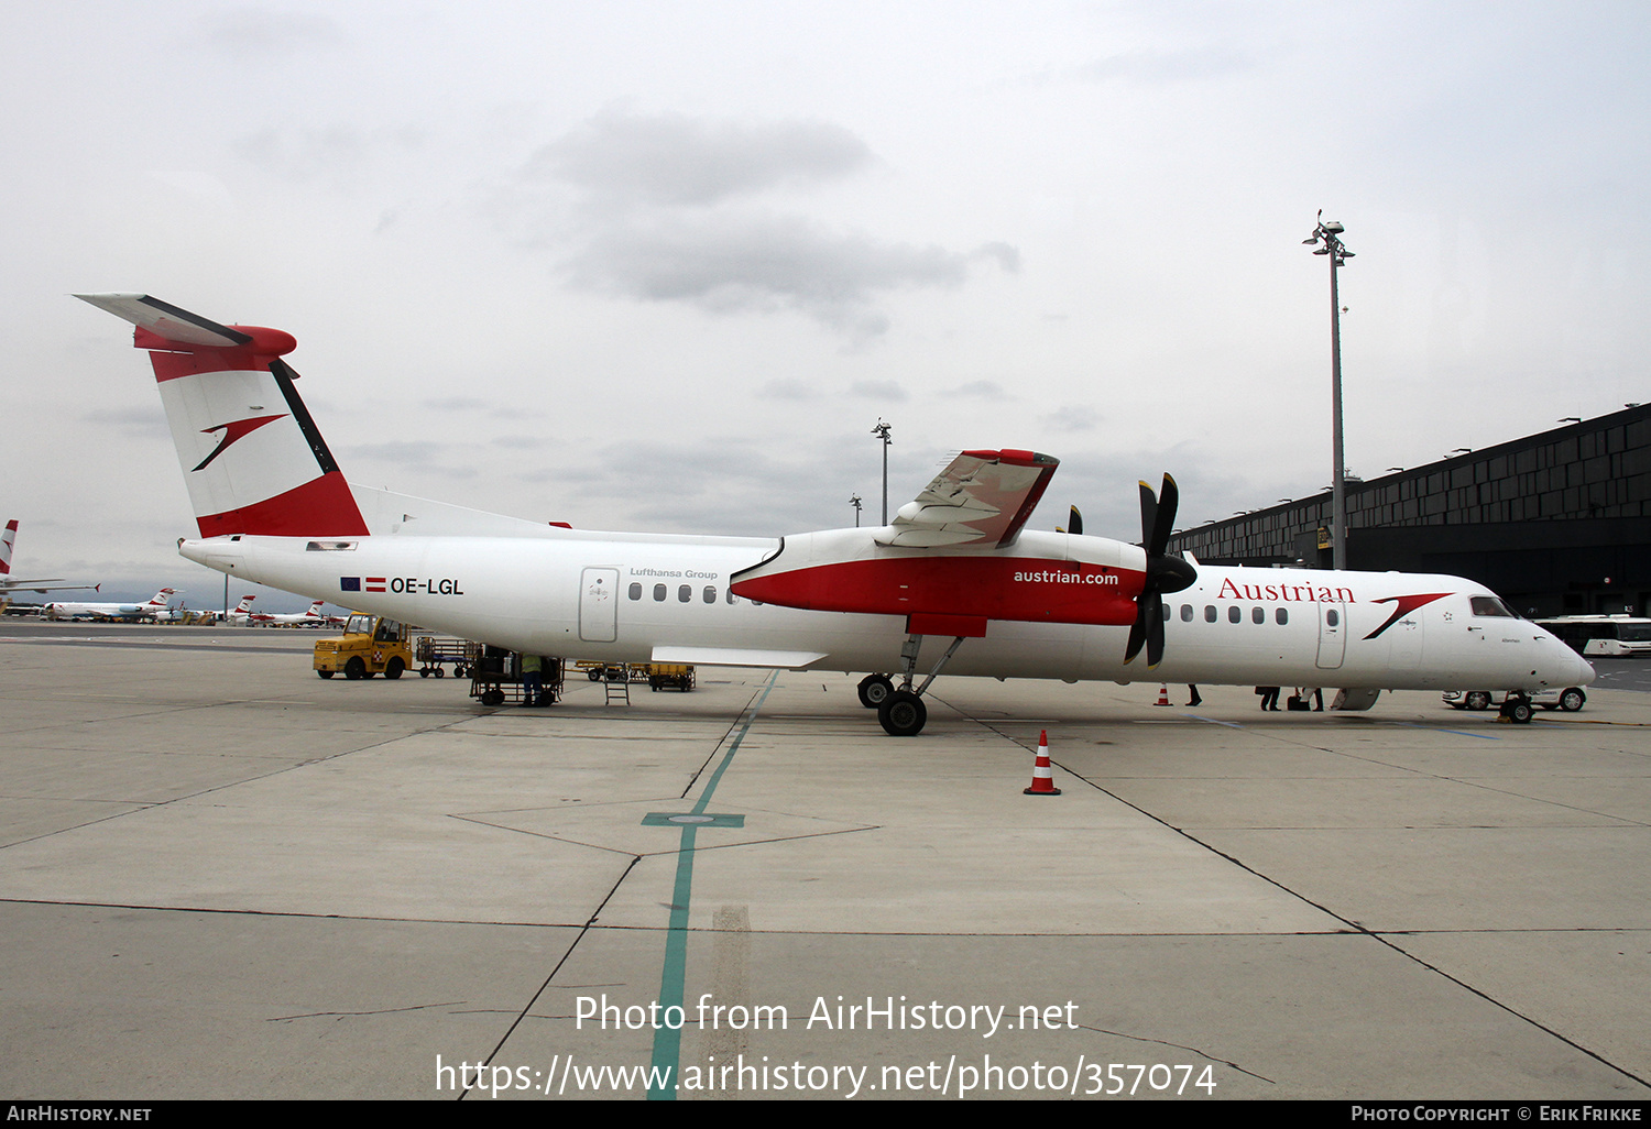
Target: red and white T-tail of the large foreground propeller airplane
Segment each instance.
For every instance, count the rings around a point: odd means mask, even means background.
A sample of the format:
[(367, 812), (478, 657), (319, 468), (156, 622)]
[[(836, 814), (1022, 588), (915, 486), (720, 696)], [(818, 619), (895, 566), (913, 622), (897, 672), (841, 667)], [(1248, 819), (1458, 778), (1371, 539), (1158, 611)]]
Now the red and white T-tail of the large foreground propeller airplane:
[(137, 327), (201, 536), (363, 536), (367, 522), (281, 360), (297, 340), (147, 294), (76, 294)]

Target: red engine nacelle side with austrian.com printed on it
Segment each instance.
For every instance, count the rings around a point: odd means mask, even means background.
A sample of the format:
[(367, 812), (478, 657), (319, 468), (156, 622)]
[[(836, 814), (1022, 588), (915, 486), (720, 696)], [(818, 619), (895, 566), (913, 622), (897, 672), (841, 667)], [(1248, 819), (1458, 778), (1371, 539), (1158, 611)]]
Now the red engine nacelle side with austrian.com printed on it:
[(1141, 573), (1080, 561), (905, 556), (753, 576), (735, 581), (733, 591), (811, 611), (1128, 627), (1144, 583)]

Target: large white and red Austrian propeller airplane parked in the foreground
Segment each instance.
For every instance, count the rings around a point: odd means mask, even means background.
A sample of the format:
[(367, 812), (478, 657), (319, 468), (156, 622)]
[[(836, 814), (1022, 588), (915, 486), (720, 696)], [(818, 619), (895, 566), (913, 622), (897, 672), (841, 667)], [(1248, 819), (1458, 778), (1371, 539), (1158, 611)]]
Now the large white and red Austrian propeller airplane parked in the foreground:
[(282, 360), (289, 333), (79, 297), (149, 350), (200, 531), (183, 556), (510, 650), (872, 672), (860, 700), (896, 736), (923, 730), (941, 670), (1341, 687), (1354, 710), (1384, 688), (1474, 687), (1512, 692), (1516, 721), (1524, 695), (1593, 680), (1456, 576), (1169, 556), (1167, 475), (1157, 497), (1141, 485), (1141, 545), (1029, 530), (1057, 467), (1030, 451), (959, 454), (883, 528), (778, 540), (591, 533), (352, 485)]

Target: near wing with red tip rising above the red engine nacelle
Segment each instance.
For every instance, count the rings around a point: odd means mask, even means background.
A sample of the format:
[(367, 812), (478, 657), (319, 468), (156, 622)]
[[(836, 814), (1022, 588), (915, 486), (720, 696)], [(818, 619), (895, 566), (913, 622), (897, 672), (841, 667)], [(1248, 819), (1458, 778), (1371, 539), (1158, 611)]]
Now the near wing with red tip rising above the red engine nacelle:
[(1034, 451), (964, 451), (900, 513), (878, 545), (1004, 548), (1020, 536), (1060, 459)]

